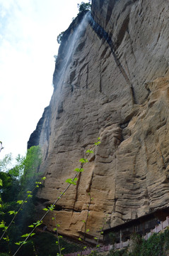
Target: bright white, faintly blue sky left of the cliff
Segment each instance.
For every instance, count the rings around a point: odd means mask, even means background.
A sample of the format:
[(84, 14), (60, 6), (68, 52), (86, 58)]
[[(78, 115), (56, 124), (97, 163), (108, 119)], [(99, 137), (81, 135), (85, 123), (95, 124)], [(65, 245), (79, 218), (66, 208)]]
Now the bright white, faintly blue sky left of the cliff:
[(76, 17), (80, 3), (0, 0), (0, 159), (10, 152), (25, 154), (52, 96), (57, 36)]

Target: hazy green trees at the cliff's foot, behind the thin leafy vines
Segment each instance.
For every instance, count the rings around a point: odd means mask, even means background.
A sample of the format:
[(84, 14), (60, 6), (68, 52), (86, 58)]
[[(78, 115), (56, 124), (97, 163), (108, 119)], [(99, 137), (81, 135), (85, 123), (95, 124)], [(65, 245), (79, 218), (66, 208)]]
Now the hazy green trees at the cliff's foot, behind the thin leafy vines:
[[(22, 198), (26, 197), (26, 185), (30, 183), (30, 181), (34, 183), (34, 188), (42, 185), (42, 182), (35, 183), (35, 181), (33, 181), (35, 172), (40, 166), (40, 161), (41, 155), (39, 146), (33, 146), (28, 149), (26, 157), (18, 155), (16, 165), (12, 168), (11, 154), (5, 156), (5, 158), (0, 161), (1, 170), (3, 170), (0, 171), (1, 185), (3, 185), (0, 198), (0, 236), (4, 236), (3, 239), (1, 239), (0, 250), (3, 252), (15, 252), (18, 245), (21, 246), (23, 244), (33, 249), (31, 242), (20, 241), (21, 238), (27, 238), (27, 235), (32, 237), (35, 234), (26, 233), (29, 231), (28, 223), (30, 223), (30, 221), (32, 222), (34, 215), (33, 201), (32, 199), (27, 201), (28, 198), (33, 197), (33, 191), (27, 191), (28, 196), (25, 201), (18, 199), (20, 199), (19, 197), (21, 196)], [(42, 178), (42, 181), (45, 181), (45, 177)], [(31, 189), (32, 187), (29, 186), (29, 188)], [(24, 207), (23, 203), (26, 203)], [(18, 212), (19, 208), (21, 210)], [(15, 223), (13, 222), (14, 218)], [(35, 227), (40, 224), (35, 223)], [(25, 233), (25, 235), (22, 235), (22, 233)], [(21, 255), (29, 255), (28, 252), (23, 253), (24, 250), (25, 249), (21, 250), (17, 255), (19, 256), (20, 253)]]

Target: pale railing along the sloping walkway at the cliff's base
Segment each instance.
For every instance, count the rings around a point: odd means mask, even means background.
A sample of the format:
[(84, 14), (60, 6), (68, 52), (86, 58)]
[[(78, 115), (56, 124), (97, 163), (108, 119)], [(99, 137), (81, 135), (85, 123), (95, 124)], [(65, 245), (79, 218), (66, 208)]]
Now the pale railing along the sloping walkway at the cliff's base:
[[(163, 229), (167, 228), (169, 226), (169, 217), (166, 218), (166, 220), (161, 221), (161, 223), (159, 225), (156, 225), (155, 228), (153, 228), (153, 230), (151, 230), (151, 232), (146, 233), (146, 235), (144, 235), (144, 240), (148, 240), (148, 238), (151, 237), (151, 235), (153, 235), (153, 233), (159, 233), (161, 232)], [(115, 245), (103, 245), (102, 247), (98, 247), (96, 250), (97, 252), (107, 252), (112, 250), (113, 248), (115, 250), (118, 249), (122, 249), (124, 247), (129, 246), (130, 240), (127, 240), (126, 242), (119, 242), (119, 243), (115, 243)], [(89, 255), (91, 254), (91, 252), (95, 250), (93, 248), (88, 248), (86, 250), (83, 250), (82, 252), (73, 252), (73, 253), (69, 253), (69, 254), (65, 254), (64, 256), (78, 256), (78, 255)]]

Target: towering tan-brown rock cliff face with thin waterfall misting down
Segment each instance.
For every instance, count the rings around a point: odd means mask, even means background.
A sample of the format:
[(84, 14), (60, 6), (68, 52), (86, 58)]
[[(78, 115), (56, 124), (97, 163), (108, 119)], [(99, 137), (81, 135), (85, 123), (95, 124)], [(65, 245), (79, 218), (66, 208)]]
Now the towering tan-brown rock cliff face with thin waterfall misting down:
[(87, 240), (105, 216), (109, 228), (169, 206), (168, 7), (165, 0), (93, 0), (91, 16), (64, 34), (54, 93), (28, 142), (42, 146), (47, 177), (37, 215), (66, 188), (97, 137), (101, 144), (55, 207), (59, 233), (81, 236), (89, 192)]

